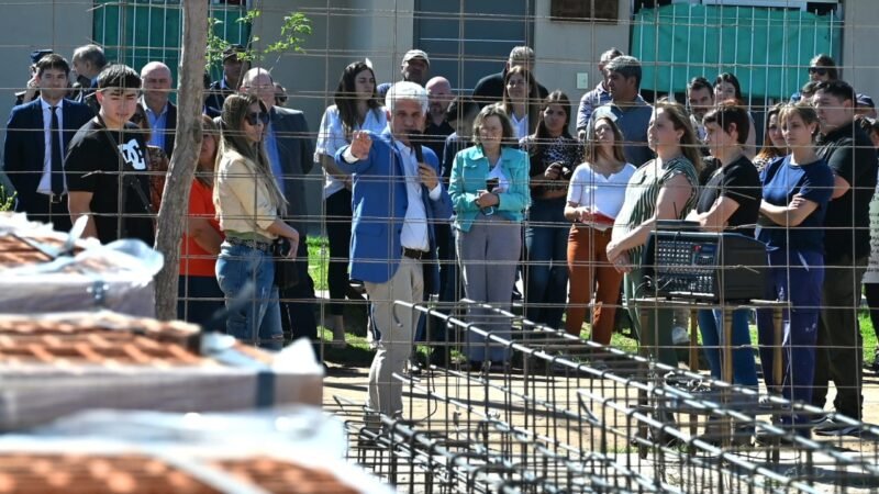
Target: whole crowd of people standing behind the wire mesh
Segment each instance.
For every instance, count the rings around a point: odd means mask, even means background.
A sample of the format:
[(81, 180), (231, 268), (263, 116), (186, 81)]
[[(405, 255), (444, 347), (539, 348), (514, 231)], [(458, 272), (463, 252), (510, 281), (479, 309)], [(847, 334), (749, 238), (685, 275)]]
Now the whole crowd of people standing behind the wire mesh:
[[(302, 112), (283, 108), (270, 72), (230, 47), (223, 77), (205, 81), (180, 316), (268, 348), (279, 348), (285, 333), (316, 340), (304, 199), (304, 176), (316, 164), (330, 250), (323, 325), (344, 345), (344, 302), (360, 297), (363, 287), (378, 350), (368, 401), (377, 413), (402, 411), (392, 374), (403, 371), (413, 340), (447, 341), (424, 335), (424, 318), (399, 304), (430, 294), (470, 301), (466, 317), (476, 330), (461, 344), (474, 369), (509, 367), (508, 348), (486, 338), (515, 338), (496, 310), (509, 312), (516, 299), (537, 325), (610, 345), (621, 296), (641, 345), (677, 366), (680, 316), (659, 308), (643, 321), (635, 301), (646, 294), (642, 255), (650, 232), (678, 220), (766, 244), (770, 280), (755, 299), (790, 304), (781, 341), (771, 314), (757, 317), (763, 368), (772, 368), (772, 348), (783, 348), (782, 381), (764, 372), (767, 388), (824, 407), (833, 380), (836, 411), (860, 418), (856, 307), (877, 187), (872, 101), (819, 55), (802, 90), (765, 113), (758, 145), (734, 74), (713, 83), (693, 78), (687, 104), (650, 103), (641, 94), (639, 60), (612, 48), (600, 57), (601, 81), (575, 112), (534, 67), (533, 50), (518, 46), (468, 97), (455, 96), (444, 77), (430, 78), (430, 56), (420, 49), (405, 54), (397, 82), (379, 85), (368, 60), (354, 61), (314, 143)], [(60, 55), (35, 52), (32, 76), (16, 94), (4, 144), (18, 210), (60, 229), (86, 216), (87, 236), (152, 245), (177, 121), (169, 68), (151, 61), (138, 75), (88, 45), (74, 53), (73, 74)], [(279, 281), (288, 271), (279, 262), (294, 263), (294, 280)], [(879, 279), (865, 283), (879, 327)], [(698, 318), (720, 378), (723, 317), (705, 310)], [(756, 389), (748, 321), (747, 311), (734, 312), (733, 382)], [(812, 426), (853, 433), (830, 419), (786, 420), (799, 434)]]

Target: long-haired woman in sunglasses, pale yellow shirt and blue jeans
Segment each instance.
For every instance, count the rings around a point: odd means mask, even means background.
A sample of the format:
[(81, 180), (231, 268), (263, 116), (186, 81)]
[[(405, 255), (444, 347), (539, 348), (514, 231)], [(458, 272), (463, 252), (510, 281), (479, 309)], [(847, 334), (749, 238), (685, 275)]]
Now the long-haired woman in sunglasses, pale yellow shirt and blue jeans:
[(287, 202), (263, 146), (268, 119), (256, 96), (233, 94), (223, 103), (213, 202), (226, 238), (216, 279), (229, 310), (226, 332), (252, 345), (279, 349), (283, 334), (272, 243), (288, 238), (288, 257), (293, 258), (299, 233), (281, 220)]

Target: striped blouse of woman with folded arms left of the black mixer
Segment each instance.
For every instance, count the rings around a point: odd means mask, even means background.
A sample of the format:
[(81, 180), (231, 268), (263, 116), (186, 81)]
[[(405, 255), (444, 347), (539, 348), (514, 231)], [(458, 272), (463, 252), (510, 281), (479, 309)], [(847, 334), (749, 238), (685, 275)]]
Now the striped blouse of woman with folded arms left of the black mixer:
[[(657, 166), (655, 159), (652, 159), (638, 168), (628, 180), (623, 209), (620, 210), (620, 214), (616, 215), (616, 221), (613, 224), (614, 235), (627, 234), (652, 217), (656, 213), (659, 190), (666, 182), (681, 173), (690, 182), (692, 191), (690, 192), (690, 198), (687, 199), (683, 207), (677, 214), (678, 220), (687, 217), (690, 210), (696, 206), (699, 190), (696, 167), (683, 156), (666, 162), (663, 168)], [(641, 265), (643, 249), (644, 246), (638, 246), (628, 251), (628, 258), (633, 265)]]

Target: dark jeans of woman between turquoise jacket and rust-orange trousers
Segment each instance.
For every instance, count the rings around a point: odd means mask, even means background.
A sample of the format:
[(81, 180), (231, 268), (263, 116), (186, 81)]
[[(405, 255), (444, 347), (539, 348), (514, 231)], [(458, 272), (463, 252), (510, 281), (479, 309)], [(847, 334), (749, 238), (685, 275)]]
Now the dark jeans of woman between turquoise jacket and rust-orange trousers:
[(565, 198), (534, 201), (525, 228), (525, 317), (561, 326), (568, 294), (568, 233)]

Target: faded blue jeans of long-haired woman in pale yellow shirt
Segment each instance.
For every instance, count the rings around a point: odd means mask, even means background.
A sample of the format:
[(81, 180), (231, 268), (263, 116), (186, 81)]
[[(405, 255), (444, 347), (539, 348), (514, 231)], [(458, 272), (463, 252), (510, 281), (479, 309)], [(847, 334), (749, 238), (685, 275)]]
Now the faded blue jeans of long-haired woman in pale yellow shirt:
[[(224, 242), (216, 260), (216, 280), (229, 310), (226, 333), (251, 345), (280, 349), (283, 333), (271, 255)], [(248, 284), (253, 291), (242, 299)]]

